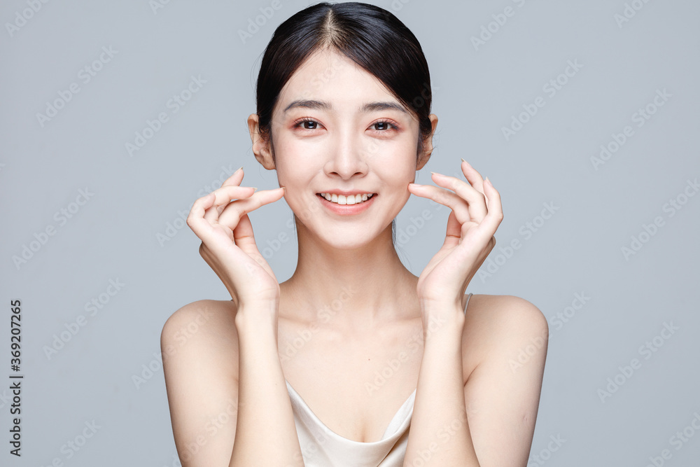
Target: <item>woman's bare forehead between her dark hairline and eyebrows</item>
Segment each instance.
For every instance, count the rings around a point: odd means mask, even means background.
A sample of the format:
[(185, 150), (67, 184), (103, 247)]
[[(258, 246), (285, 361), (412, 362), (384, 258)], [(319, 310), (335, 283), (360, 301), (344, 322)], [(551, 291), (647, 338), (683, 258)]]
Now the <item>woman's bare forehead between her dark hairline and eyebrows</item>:
[(375, 101), (399, 104), (376, 76), (328, 49), (312, 53), (297, 68), (280, 92), (278, 108), (298, 99), (329, 102), (334, 108)]

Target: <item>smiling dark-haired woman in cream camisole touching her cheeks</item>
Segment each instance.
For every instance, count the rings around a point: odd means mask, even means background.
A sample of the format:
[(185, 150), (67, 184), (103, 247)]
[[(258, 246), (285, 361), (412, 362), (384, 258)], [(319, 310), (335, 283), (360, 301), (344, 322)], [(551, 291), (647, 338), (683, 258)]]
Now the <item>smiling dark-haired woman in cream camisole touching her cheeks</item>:
[[(248, 127), (281, 188), (243, 186), (239, 169), (194, 203), (232, 300), (186, 305), (162, 331), (183, 466), (526, 465), (547, 321), (520, 298), (465, 295), (503, 213), (468, 162), (464, 179), (413, 183), (436, 125), (426, 58), (391, 13), (316, 4), (276, 29)], [(393, 245), (410, 195), (451, 209), (419, 277)], [(281, 197), (299, 258), (278, 284), (248, 213)]]

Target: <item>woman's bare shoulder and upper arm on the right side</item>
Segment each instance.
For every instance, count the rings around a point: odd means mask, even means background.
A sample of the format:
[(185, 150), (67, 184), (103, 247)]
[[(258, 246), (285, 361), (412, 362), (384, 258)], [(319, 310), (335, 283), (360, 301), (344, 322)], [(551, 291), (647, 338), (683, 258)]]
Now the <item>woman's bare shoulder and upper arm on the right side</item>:
[(512, 295), (472, 295), (465, 319), (464, 403), (482, 465), (524, 466), (547, 357), (547, 319)]

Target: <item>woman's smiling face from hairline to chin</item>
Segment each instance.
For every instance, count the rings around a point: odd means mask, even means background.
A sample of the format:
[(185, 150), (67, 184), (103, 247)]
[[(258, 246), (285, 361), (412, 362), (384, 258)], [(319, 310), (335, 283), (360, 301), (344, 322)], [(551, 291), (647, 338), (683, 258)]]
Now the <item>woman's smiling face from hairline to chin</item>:
[(285, 200), (307, 229), (339, 249), (377, 237), (402, 209), (420, 168), (418, 141), (412, 113), (377, 78), (328, 50), (295, 71), (272, 114)]

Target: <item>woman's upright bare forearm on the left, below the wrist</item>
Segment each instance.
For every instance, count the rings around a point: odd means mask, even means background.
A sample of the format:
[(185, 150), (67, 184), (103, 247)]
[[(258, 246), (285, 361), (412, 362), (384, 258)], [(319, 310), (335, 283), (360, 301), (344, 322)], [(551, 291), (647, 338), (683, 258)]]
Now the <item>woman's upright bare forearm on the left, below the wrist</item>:
[(236, 316), (239, 401), (230, 467), (304, 465), (270, 315), (240, 309)]

